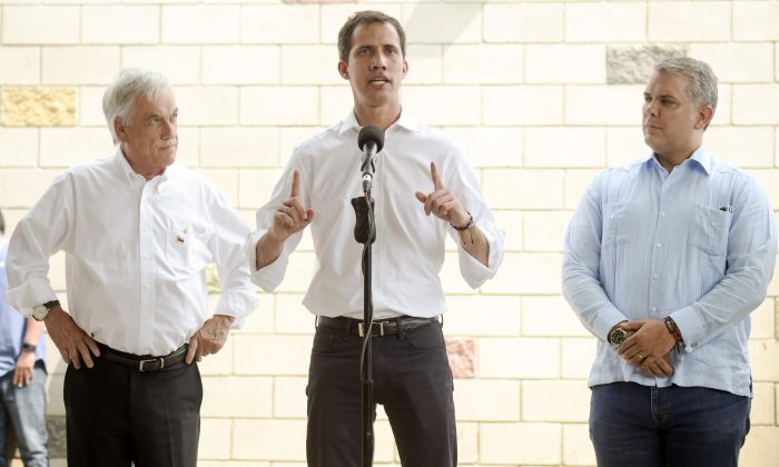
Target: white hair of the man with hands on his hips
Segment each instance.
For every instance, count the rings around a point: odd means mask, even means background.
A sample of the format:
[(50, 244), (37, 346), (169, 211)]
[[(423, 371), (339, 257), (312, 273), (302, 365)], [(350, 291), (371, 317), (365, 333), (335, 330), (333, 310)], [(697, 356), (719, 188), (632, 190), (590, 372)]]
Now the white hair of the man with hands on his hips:
[(119, 118), (124, 125), (130, 125), (136, 98), (140, 97), (147, 102), (152, 102), (162, 90), (172, 93), (168, 79), (161, 73), (138, 68), (121, 70), (116, 81), (106, 89), (106, 93), (102, 96), (102, 113), (106, 116), (114, 143), (119, 142), (114, 129), (114, 121)]

